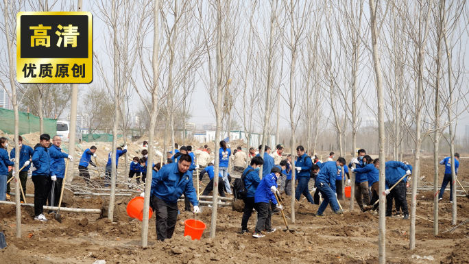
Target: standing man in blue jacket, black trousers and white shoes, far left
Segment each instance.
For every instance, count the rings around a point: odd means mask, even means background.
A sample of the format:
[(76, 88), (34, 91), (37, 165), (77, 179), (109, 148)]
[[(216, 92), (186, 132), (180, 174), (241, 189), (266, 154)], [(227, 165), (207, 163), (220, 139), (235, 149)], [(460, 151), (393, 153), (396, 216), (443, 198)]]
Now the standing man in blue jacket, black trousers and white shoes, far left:
[(47, 201), (47, 190), (51, 184), (51, 160), (49, 154), (49, 144), (51, 136), (42, 134), (39, 137), (39, 144), (34, 149), (32, 163), (35, 170), (32, 172), (34, 183), (34, 220), (47, 221), (44, 216), (44, 205)]

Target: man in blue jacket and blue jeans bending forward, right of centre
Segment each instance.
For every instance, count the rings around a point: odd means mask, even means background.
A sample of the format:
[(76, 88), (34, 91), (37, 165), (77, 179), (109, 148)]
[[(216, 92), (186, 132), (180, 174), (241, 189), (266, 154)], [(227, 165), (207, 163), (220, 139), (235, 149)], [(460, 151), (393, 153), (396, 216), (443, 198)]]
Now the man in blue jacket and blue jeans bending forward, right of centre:
[(323, 217), (324, 210), (326, 210), (327, 205), (330, 203), (334, 213), (341, 214), (344, 211), (339, 207), (339, 202), (337, 201), (337, 194), (334, 193), (335, 190), (335, 177), (337, 176), (337, 166), (344, 167), (346, 161), (344, 158), (339, 157), (336, 162), (328, 161), (323, 163), (319, 173), (316, 176), (315, 187), (320, 191), (322, 195), (322, 203), (317, 209), (316, 217)]

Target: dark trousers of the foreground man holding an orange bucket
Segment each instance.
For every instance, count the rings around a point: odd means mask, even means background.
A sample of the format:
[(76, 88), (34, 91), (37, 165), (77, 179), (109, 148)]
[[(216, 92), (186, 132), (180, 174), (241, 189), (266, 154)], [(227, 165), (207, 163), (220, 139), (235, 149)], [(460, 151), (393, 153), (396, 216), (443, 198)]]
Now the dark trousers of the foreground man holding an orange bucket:
[(156, 196), (152, 197), (152, 203), (156, 213), (156, 239), (170, 239), (178, 219), (178, 203), (168, 204)]

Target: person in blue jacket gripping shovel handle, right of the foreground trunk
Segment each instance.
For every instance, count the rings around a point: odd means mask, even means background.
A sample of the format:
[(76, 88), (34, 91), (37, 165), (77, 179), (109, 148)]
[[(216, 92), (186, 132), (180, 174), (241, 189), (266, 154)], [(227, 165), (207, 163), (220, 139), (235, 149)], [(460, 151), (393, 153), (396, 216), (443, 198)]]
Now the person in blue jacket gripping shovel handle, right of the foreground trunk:
[[(404, 213), (404, 218), (403, 219), (409, 219), (409, 211), (408, 211), (408, 206), (407, 206), (407, 199), (406, 199), (406, 187), (405, 187), (405, 181), (400, 180), (402, 176), (409, 176), (411, 175), (411, 171), (407, 165), (404, 163), (401, 163), (400, 161), (388, 161), (385, 163), (385, 170), (386, 170), (386, 216), (387, 217), (392, 217), (392, 200), (396, 198), (398, 202), (400, 203), (400, 206), (402, 206), (402, 213)], [(402, 169), (405, 171), (405, 175), (401, 175), (402, 171), (399, 171), (399, 169)], [(400, 182), (399, 182), (400, 180)], [(398, 184), (396, 184), (398, 182)], [(390, 187), (396, 186), (392, 189), (389, 190)]]

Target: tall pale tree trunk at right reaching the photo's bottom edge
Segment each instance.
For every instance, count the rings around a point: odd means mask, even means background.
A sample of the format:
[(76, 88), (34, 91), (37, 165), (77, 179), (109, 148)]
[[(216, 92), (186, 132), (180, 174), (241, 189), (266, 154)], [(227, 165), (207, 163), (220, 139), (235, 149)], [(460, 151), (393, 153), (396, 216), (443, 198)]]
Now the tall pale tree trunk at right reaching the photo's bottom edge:
[[(383, 73), (381, 72), (381, 58), (378, 48), (378, 27), (376, 22), (376, 3), (370, 0), (370, 27), (372, 33), (372, 56), (374, 64), (374, 75), (376, 77), (376, 93), (378, 96), (378, 136), (379, 136), (379, 263), (386, 263), (386, 195), (385, 191), (385, 117), (384, 117), (384, 95), (383, 95)], [(382, 18), (384, 19), (384, 18)]]

